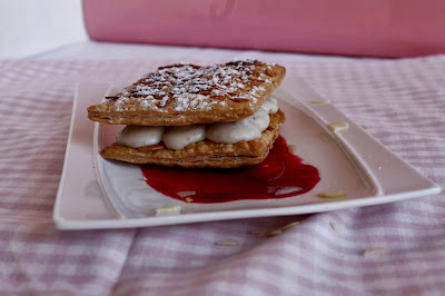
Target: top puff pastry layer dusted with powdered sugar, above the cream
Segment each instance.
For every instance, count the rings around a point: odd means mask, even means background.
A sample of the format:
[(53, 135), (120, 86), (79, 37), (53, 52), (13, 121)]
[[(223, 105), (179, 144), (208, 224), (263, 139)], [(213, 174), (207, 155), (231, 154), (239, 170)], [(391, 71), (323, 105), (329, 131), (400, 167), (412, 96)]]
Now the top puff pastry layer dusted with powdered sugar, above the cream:
[(234, 121), (256, 112), (285, 73), (281, 66), (256, 60), (161, 67), (107, 102), (89, 107), (88, 117), (136, 126)]

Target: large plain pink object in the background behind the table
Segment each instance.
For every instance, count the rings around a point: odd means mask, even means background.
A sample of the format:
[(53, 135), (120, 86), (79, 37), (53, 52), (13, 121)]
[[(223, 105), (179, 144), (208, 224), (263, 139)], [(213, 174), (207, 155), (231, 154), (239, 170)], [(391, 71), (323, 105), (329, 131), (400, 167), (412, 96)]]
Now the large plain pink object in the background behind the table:
[(445, 52), (442, 0), (83, 0), (93, 40), (411, 57)]

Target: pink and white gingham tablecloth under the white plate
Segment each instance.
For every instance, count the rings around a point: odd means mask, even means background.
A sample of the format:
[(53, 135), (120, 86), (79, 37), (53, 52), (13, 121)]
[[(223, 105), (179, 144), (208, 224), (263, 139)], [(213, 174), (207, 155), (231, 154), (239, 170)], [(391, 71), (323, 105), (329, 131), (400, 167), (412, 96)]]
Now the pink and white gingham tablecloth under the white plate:
[[(52, 207), (76, 83), (131, 81), (164, 63), (235, 58), (285, 65), (288, 77), (303, 77), (444, 186), (445, 56), (378, 60), (125, 46), (117, 51), (66, 48), (63, 59), (55, 52), (0, 62), (0, 294), (444, 295), (445, 193), (307, 216), (120, 230), (57, 230)], [(277, 236), (250, 233), (296, 220)], [(239, 244), (217, 244), (226, 239)]]

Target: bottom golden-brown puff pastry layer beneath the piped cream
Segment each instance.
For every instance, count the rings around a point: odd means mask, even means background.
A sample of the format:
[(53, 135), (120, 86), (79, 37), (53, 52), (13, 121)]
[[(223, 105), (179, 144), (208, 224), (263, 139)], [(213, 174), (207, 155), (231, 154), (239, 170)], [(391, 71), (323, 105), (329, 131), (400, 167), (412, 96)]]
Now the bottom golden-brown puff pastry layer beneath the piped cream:
[(105, 158), (132, 164), (179, 166), (186, 168), (235, 168), (256, 165), (261, 162), (269, 154), (284, 121), (285, 115), (281, 110), (270, 115), (269, 127), (263, 131), (261, 138), (251, 141), (217, 144), (204, 140), (190, 144), (180, 150), (171, 150), (165, 147), (159, 148), (159, 146), (156, 149), (147, 147), (130, 148), (115, 142), (106, 147), (101, 151), (101, 155)]

